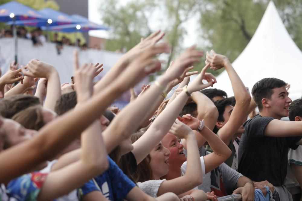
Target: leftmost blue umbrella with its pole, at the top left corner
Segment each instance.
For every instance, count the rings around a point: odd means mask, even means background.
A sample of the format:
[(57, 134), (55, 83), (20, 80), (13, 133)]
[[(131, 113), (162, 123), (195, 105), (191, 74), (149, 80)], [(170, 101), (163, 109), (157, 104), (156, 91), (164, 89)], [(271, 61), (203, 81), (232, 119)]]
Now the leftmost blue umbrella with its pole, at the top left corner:
[(14, 32), (14, 52), (15, 61), (17, 62), (17, 32), (14, 26), (16, 20), (47, 20), (48, 18), (41, 14), (39, 11), (34, 10), (21, 3), (11, 1), (6, 4), (0, 5), (0, 21), (9, 22), (13, 21), (13, 32)]

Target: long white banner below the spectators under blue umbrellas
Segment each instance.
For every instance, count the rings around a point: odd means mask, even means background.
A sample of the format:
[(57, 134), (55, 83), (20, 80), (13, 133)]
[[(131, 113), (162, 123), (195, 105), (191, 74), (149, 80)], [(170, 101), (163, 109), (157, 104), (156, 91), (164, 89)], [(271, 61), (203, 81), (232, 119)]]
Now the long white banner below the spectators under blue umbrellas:
[[(36, 58), (41, 61), (52, 64), (59, 72), (60, 82), (70, 83), (73, 75), (73, 46), (63, 46), (60, 54), (56, 49), (55, 43), (47, 42), (43, 46), (33, 46), (29, 39), (18, 39), (18, 63), (26, 65), (31, 59)], [(104, 50), (87, 49), (79, 50), (79, 63), (102, 63), (104, 70), (98, 75), (97, 80), (109, 71), (111, 66), (122, 56), (121, 53), (109, 52)], [(0, 67), (2, 74), (8, 71), (9, 64), (14, 61), (14, 39), (0, 39)], [(148, 77), (142, 80), (135, 91), (140, 92), (140, 86), (148, 83)], [(119, 100), (129, 101), (130, 93), (125, 93)]]

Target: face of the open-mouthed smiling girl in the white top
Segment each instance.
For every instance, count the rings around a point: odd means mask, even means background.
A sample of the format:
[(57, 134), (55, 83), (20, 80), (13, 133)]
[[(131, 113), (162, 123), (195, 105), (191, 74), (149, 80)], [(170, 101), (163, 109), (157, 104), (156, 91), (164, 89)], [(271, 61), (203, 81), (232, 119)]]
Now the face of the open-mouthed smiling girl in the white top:
[(166, 175), (169, 171), (169, 155), (170, 151), (162, 145), (160, 142), (151, 152), (150, 152), (150, 168), (153, 173), (153, 179), (159, 179), (160, 177)]

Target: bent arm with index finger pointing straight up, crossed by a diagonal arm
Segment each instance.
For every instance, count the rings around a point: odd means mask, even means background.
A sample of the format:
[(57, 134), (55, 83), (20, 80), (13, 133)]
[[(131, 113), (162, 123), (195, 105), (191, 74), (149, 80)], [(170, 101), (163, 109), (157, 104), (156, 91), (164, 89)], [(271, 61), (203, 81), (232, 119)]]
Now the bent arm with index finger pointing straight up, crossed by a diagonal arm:
[[(81, 86), (77, 87), (76, 90), (77, 97), (79, 97), (78, 104), (83, 104), (92, 96), (92, 80), (95, 68), (90, 67), (87, 64), (84, 64), (82, 68), (76, 66), (78, 69), (75, 71), (75, 78)], [(51, 200), (62, 196), (108, 168), (106, 147), (101, 137), (101, 125), (98, 120), (95, 120), (82, 133), (81, 146), (79, 161), (50, 172), (40, 190), (38, 200)]]

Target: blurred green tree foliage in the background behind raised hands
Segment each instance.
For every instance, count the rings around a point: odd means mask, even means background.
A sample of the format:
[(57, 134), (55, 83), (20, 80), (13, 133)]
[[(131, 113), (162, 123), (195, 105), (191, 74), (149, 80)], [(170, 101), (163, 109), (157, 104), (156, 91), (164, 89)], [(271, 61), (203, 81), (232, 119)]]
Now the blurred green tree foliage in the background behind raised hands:
[[(129, 50), (141, 37), (155, 31), (150, 28), (155, 12), (162, 20), (159, 28), (165, 31), (165, 39), (172, 45), (169, 61), (191, 45), (184, 44), (184, 38), (192, 28), (198, 31), (195, 42), (199, 48), (214, 49), (234, 61), (255, 33), (269, 0), (130, 0), (124, 5), (120, 2), (102, 1), (102, 20), (111, 27), (106, 49)], [(274, 3), (294, 42), (302, 49), (302, 1), (274, 0)], [(191, 18), (198, 18), (197, 27), (187, 26)], [(203, 62), (196, 64), (194, 70), (200, 70)]]

